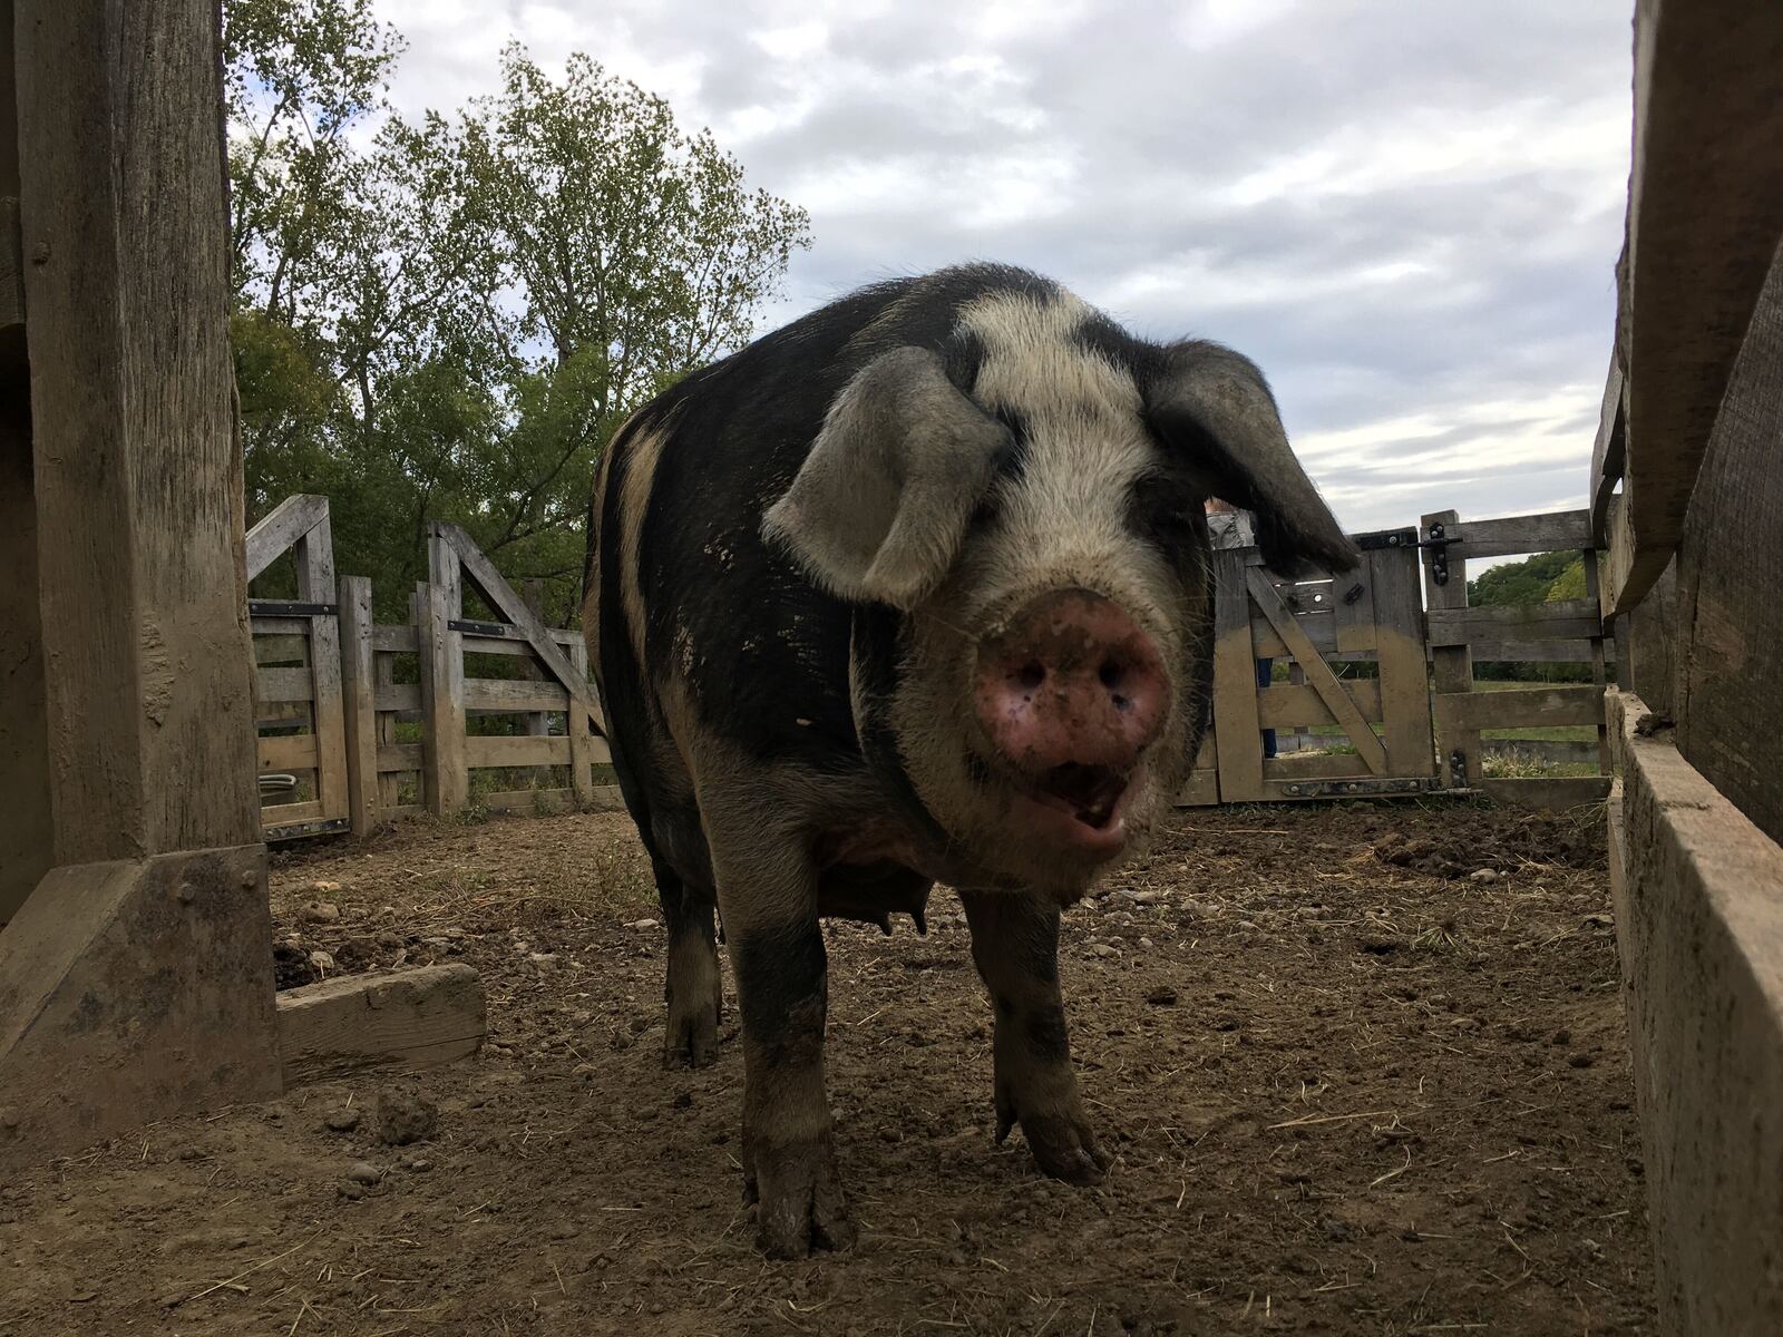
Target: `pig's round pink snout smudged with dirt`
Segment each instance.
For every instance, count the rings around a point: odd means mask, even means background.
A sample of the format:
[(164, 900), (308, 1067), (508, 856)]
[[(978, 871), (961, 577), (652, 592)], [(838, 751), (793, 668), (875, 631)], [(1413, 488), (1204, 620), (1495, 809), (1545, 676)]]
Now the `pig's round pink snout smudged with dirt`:
[(1054, 590), (979, 645), (974, 704), (997, 751), (1052, 792), (1122, 781), (1164, 724), (1157, 645), (1089, 590)]

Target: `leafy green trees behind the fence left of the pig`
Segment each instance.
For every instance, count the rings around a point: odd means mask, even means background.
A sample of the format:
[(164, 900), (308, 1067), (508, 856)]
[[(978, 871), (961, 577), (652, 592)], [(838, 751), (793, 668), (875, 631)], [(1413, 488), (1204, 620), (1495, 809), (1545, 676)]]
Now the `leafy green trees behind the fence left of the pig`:
[(804, 210), (585, 55), (510, 45), (494, 96), (407, 121), (371, 0), (226, 0), (225, 53), (250, 519), (328, 494), (385, 617), (455, 521), (572, 620), (601, 449), (752, 335)]

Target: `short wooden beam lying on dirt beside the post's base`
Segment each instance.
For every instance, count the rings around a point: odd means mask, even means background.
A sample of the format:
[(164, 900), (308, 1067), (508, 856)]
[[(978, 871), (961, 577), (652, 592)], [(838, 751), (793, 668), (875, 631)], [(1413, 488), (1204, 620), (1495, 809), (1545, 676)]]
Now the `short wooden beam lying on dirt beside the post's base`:
[(287, 1091), (380, 1068), (464, 1059), (487, 1032), (483, 982), (462, 963), (346, 975), (278, 995)]

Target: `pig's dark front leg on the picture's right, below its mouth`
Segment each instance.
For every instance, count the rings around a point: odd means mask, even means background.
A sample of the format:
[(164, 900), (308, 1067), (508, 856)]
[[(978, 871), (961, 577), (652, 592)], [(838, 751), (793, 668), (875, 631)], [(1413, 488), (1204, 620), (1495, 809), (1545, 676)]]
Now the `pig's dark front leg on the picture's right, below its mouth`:
[(997, 1141), (1022, 1125), (1039, 1168), (1098, 1184), (1109, 1157), (1084, 1114), (1059, 998), (1059, 911), (1038, 897), (961, 891), (972, 959), (997, 1009)]

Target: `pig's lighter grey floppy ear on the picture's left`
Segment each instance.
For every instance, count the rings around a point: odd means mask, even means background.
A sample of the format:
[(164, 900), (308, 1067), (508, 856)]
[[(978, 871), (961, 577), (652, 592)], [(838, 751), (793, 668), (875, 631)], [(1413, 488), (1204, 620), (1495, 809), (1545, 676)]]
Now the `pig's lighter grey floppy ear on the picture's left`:
[(922, 348), (895, 348), (836, 396), (761, 522), (826, 590), (909, 611), (954, 565), (1009, 431)]

